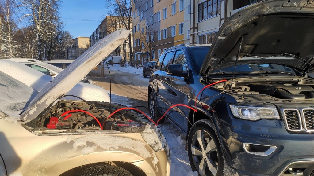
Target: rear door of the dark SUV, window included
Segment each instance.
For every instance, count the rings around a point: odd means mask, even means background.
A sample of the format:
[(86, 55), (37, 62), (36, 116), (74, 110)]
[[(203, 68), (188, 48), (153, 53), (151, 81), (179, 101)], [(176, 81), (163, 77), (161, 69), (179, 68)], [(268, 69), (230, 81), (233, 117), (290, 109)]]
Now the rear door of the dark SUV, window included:
[(161, 101), (161, 104), (162, 104), (161, 108), (163, 112), (167, 111), (168, 108), (170, 107), (168, 96), (169, 94), (173, 93), (173, 92), (170, 92), (171, 89), (169, 88), (169, 84), (168, 84), (169, 76), (167, 75), (167, 68), (173, 62), (173, 54), (174, 54), (174, 51), (169, 51), (165, 53), (165, 58), (160, 67), (159, 96), (157, 96), (157, 98), (159, 98)]

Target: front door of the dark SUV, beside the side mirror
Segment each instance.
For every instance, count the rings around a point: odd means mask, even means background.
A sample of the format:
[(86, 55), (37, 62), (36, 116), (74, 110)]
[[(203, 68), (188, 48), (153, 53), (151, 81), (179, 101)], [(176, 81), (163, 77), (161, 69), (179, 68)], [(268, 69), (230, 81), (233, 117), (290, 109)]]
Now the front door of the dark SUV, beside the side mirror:
[[(174, 53), (173, 64), (182, 64), (183, 73), (188, 73), (187, 61), (183, 50), (176, 50)], [(170, 108), (172, 105), (184, 104), (188, 105), (188, 96), (191, 89), (187, 85), (186, 79), (178, 76), (165, 75), (164, 76), (164, 86), (166, 87), (163, 91), (163, 97), (165, 97), (165, 102)], [(188, 109), (183, 106), (176, 106), (172, 108), (169, 112), (169, 118), (173, 121), (182, 131), (185, 131), (187, 124), (187, 119), (182, 115), (186, 114), (184, 111)], [(174, 112), (171, 112), (174, 111)], [(170, 114), (171, 113), (171, 114)], [(182, 114), (181, 114), (182, 113)]]

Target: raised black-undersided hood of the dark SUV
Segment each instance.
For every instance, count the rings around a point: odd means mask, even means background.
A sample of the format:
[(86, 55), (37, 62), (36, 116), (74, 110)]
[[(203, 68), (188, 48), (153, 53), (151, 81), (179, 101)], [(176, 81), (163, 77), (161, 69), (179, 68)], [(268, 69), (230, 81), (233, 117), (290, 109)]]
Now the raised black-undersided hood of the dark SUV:
[[(307, 62), (311, 64), (313, 61), (313, 31), (312, 1), (267, 0), (252, 4), (223, 23), (203, 62), (200, 75), (234, 66), (242, 36), (238, 65), (268, 63), (306, 71), (309, 67)], [(280, 54), (283, 55), (271, 57)]]

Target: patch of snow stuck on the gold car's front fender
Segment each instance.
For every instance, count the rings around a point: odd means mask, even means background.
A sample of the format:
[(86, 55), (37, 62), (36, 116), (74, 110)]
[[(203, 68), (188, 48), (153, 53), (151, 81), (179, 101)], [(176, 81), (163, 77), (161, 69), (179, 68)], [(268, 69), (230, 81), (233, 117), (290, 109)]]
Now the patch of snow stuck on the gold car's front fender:
[[(127, 148), (139, 153), (144, 159), (151, 157), (151, 154), (143, 144), (143, 142), (136, 141), (130, 138), (109, 136), (106, 134), (88, 135), (81, 138), (68, 137), (68, 143), (73, 141), (73, 148), (77, 150), (78, 147), (84, 147), (82, 149), (83, 154), (93, 152), (97, 147), (103, 148), (108, 151), (114, 151), (118, 148)], [(87, 145), (87, 142), (93, 143), (93, 145)]]

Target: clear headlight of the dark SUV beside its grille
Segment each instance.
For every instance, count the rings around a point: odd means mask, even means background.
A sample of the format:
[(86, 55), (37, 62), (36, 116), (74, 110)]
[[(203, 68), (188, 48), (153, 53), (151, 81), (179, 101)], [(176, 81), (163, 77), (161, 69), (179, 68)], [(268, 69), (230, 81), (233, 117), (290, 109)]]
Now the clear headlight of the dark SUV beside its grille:
[(275, 107), (229, 106), (233, 116), (241, 119), (252, 121), (257, 121), (259, 119), (279, 119), (279, 114)]

